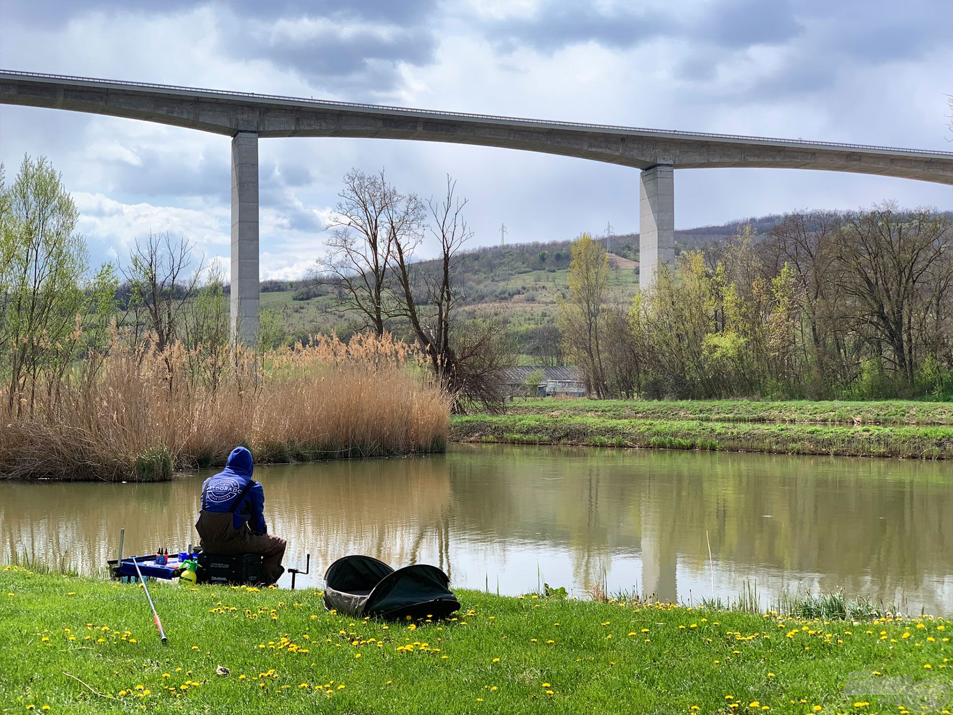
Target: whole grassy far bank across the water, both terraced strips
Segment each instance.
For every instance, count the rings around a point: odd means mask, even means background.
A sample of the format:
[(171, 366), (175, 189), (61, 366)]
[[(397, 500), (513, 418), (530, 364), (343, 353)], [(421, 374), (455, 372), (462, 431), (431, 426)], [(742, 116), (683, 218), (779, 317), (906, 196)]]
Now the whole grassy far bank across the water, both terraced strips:
[[(953, 424), (928, 420), (950, 420), (950, 409), (919, 402), (528, 400), (505, 415), (454, 417), (450, 435), (461, 442), (944, 460), (953, 459)], [(835, 421), (850, 415), (858, 419)], [(867, 423), (875, 419), (881, 424)]]

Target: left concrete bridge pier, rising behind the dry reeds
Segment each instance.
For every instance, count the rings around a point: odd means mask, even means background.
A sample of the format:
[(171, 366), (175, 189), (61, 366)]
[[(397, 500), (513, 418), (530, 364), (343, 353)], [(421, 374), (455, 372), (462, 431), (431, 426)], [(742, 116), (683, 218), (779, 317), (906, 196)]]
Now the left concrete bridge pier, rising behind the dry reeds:
[(232, 138), (232, 330), (251, 345), (258, 337), (258, 134)]

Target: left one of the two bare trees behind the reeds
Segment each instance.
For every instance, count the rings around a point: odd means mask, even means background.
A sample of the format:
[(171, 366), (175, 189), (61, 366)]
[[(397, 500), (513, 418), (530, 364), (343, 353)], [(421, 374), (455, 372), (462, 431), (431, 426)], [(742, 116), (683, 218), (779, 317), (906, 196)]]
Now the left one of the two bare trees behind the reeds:
[(392, 313), (387, 281), (395, 240), (416, 245), (423, 206), (413, 194), (398, 194), (383, 170), (365, 174), (352, 169), (338, 196), (327, 226), (332, 232), (329, 253), (315, 274), (332, 276), (342, 289), (341, 307), (363, 315), (365, 327), (382, 335)]

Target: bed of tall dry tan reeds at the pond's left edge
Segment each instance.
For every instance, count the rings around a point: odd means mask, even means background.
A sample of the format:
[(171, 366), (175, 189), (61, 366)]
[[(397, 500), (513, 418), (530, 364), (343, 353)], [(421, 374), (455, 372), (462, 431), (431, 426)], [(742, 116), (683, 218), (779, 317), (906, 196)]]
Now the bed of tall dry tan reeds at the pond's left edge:
[(265, 354), (158, 351), (119, 337), (0, 431), (0, 479), (166, 480), (223, 464), (442, 451), (450, 399), (393, 337), (315, 337)]

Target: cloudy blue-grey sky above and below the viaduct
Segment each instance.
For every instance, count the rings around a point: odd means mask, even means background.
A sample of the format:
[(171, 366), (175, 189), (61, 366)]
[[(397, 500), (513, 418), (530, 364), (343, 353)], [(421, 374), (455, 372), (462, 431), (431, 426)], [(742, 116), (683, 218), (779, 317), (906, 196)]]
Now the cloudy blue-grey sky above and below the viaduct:
[[(953, 151), (950, 0), (0, 0), (0, 68), (458, 112)], [(0, 161), (47, 156), (94, 261), (170, 232), (228, 272), (228, 137), (0, 105)], [(639, 230), (635, 169), (542, 153), (262, 139), (261, 277), (304, 276), (351, 168), (469, 199), (471, 245)], [(679, 170), (676, 228), (953, 187), (784, 169)], [(425, 243), (424, 257), (434, 246)]]

